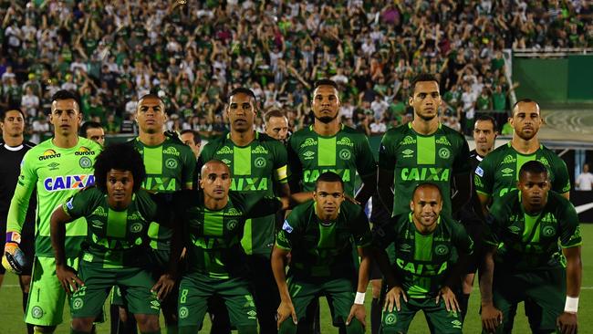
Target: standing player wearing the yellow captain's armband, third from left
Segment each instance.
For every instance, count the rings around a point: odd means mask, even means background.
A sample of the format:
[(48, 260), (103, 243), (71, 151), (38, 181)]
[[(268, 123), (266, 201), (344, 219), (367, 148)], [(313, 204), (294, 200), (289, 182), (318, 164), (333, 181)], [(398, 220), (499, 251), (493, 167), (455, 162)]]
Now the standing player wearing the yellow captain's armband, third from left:
[[(200, 162), (220, 160), (231, 170), (231, 190), (255, 196), (274, 196), (276, 190), (288, 195), (286, 149), (282, 142), (254, 130), (255, 94), (251, 89), (231, 91), (226, 113), (231, 131), (224, 137), (208, 142)], [(200, 165), (202, 163), (199, 163)], [(270, 266), (275, 241), (276, 214), (247, 219), (241, 240), (251, 271), (257, 318), (262, 333), (276, 332), (276, 307), (280, 296), (275, 288)]]

